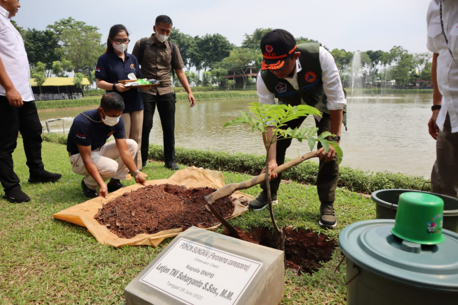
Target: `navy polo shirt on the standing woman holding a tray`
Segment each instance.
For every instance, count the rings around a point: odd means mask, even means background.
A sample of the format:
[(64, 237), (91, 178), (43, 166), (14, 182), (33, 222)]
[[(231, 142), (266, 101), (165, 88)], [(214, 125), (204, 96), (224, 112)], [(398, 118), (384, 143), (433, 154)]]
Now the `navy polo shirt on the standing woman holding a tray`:
[[(137, 58), (125, 52), (126, 58), (120, 58), (114, 51), (100, 55), (97, 60), (95, 77), (109, 83), (129, 79), (127, 75), (135, 74), (137, 78), (141, 77), (140, 67)], [(107, 90), (112, 92), (112, 90)], [(143, 110), (143, 101), (141, 100), (138, 88), (131, 88), (125, 92), (118, 92), (124, 100), (124, 112)]]

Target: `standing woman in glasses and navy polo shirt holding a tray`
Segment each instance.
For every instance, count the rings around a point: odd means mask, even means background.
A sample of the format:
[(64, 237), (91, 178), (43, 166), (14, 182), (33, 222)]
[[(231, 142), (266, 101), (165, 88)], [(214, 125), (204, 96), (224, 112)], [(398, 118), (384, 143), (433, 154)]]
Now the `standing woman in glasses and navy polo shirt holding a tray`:
[[(124, 25), (111, 26), (105, 53), (97, 60), (95, 77), (97, 87), (105, 89), (106, 92), (116, 92), (123, 97), (125, 107), (121, 116), (126, 128), (126, 139), (136, 141), (140, 147), (144, 109), (141, 95), (138, 88), (126, 87), (120, 83), (122, 80), (140, 78), (137, 58), (127, 53), (129, 42), (129, 33)], [(142, 169), (140, 153), (134, 157), (134, 162), (138, 169)]]

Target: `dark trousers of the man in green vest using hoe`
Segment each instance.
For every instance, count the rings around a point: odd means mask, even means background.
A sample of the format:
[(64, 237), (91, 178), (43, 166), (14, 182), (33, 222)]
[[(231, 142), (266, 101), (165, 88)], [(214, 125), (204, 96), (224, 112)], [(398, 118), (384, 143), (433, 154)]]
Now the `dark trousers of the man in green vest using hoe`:
[[(294, 120), (289, 121), (286, 126), (283, 126), (282, 129), (295, 129), (296, 127), (301, 126), (302, 122), (305, 120), (305, 117), (300, 117)], [(325, 131), (331, 131), (331, 117), (327, 113), (323, 113), (323, 117), (320, 121), (315, 119), (315, 125), (318, 127), (318, 134), (321, 134)], [(277, 165), (284, 163), (284, 158), (286, 155), (286, 150), (291, 145), (292, 139), (280, 139), (277, 141)], [(307, 148), (308, 145), (304, 144)], [(318, 148), (321, 148), (321, 143), (318, 143)], [(337, 187), (337, 180), (339, 178), (339, 165), (337, 161), (337, 156), (329, 161), (324, 162), (320, 161), (318, 168), (318, 178), (317, 178), (317, 191), (318, 197), (321, 202), (334, 202), (335, 200), (335, 189)], [(277, 178), (270, 181), (270, 190), (273, 194), (276, 194), (278, 188), (280, 187), (281, 182), (281, 173), (278, 174)], [(266, 189), (266, 185), (261, 185), (262, 189)]]

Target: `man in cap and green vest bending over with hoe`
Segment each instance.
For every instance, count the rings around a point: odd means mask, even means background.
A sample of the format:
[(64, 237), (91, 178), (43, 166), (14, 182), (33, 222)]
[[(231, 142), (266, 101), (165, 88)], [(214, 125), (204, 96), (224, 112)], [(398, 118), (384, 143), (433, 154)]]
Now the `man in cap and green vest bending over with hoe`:
[[(293, 35), (284, 29), (274, 29), (261, 40), (263, 52), (262, 70), (257, 77), (257, 95), (260, 103), (306, 104), (321, 111), (322, 117), (315, 117), (318, 133), (331, 132), (329, 140), (340, 141), (342, 123), (346, 124), (345, 92), (342, 88), (338, 69), (332, 55), (318, 43), (296, 45)], [(305, 117), (289, 121), (284, 129), (299, 127)], [(269, 150), (269, 168), (273, 170), (284, 163), (285, 153), (291, 139), (279, 139)], [(339, 166), (335, 149), (330, 146), (328, 153), (319, 144), (317, 157), (320, 166), (317, 179), (318, 197), (321, 202), (319, 224), (335, 227), (335, 189)], [(263, 172), (265, 172), (265, 168)], [(271, 174), (270, 190), (276, 203), (281, 174)], [(249, 208), (260, 210), (267, 206), (266, 186), (263, 192), (250, 202)]]

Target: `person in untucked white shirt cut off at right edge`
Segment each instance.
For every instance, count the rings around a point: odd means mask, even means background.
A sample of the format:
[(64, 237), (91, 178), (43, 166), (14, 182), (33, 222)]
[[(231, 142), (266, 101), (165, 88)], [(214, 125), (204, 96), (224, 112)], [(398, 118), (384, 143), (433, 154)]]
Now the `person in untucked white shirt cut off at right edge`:
[(458, 198), (458, 2), (433, 0), (426, 21), (426, 46), (433, 52), (428, 130), (436, 140), (431, 191)]

